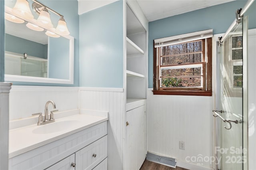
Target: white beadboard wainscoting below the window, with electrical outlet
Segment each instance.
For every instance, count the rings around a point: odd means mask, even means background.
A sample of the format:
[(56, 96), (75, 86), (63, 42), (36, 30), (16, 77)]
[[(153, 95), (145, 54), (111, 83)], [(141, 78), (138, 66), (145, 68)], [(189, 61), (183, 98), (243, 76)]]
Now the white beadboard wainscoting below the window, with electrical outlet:
[(176, 158), (177, 166), (190, 170), (212, 169), (214, 162), (190, 161), (214, 156), (212, 108), (213, 97), (153, 95), (148, 89), (148, 151)]

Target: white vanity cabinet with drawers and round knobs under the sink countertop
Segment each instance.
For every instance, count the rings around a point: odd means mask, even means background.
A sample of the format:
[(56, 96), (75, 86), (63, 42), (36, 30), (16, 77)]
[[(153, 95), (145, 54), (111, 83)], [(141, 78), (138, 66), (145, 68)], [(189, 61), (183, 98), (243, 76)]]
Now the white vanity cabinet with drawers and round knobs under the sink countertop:
[(9, 170), (104, 170), (107, 141), (104, 121), (10, 158)]

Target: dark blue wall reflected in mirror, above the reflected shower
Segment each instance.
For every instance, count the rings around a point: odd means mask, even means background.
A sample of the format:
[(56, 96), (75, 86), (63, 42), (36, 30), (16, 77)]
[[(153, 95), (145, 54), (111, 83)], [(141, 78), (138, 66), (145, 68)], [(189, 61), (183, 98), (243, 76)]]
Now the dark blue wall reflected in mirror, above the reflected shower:
[(5, 51), (47, 59), (47, 47), (41, 43), (5, 34)]

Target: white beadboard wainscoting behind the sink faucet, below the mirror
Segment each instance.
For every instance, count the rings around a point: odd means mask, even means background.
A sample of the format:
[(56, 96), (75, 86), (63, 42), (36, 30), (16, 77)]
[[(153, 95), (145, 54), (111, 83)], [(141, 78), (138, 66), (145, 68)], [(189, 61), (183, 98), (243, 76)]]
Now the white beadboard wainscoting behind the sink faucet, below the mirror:
[[(31, 117), (33, 113), (44, 114), (45, 103), (54, 101), (56, 109), (67, 111), (78, 108), (79, 87), (12, 86), (10, 90), (9, 119)], [(49, 105), (52, 109), (52, 105)]]

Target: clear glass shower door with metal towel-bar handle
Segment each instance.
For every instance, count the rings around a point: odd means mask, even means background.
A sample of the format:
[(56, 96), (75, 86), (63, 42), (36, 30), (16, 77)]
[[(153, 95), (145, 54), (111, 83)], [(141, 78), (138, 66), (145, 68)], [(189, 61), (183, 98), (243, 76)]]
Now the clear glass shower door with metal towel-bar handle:
[[(247, 165), (247, 17), (219, 47), (218, 169), (243, 170)], [(242, 21), (244, 20), (244, 21)], [(219, 115), (220, 117), (218, 117)]]

